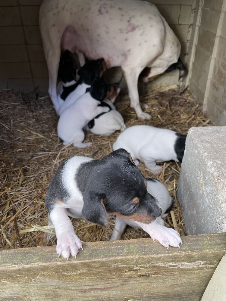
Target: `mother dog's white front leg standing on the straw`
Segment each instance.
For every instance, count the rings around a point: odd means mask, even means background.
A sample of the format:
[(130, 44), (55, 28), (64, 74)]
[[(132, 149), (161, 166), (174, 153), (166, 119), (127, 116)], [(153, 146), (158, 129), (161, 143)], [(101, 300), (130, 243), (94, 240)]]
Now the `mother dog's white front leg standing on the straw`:
[(130, 65), (122, 66), (126, 83), (129, 90), (130, 106), (135, 110), (137, 117), (140, 119), (151, 119), (148, 113), (144, 113), (140, 107), (139, 94), (137, 88), (137, 82), (141, 69), (131, 68)]

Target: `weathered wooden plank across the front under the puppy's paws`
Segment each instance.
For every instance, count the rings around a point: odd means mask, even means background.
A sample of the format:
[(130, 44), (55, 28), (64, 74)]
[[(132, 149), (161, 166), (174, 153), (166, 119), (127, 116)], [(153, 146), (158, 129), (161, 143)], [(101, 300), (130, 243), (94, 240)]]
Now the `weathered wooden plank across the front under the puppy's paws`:
[(182, 237), (180, 250), (150, 238), (84, 243), (77, 258), (54, 247), (0, 252), (0, 299), (200, 301), (226, 251), (226, 233)]

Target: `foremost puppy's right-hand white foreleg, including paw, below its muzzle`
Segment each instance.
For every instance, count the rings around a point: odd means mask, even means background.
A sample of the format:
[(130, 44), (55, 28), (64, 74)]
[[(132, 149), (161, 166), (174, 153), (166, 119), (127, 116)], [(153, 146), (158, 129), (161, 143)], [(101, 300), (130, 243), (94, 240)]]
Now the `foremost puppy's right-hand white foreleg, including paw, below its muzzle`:
[(136, 222), (144, 231), (146, 231), (153, 240), (158, 240), (160, 244), (164, 247), (178, 247), (179, 244), (182, 244), (180, 239), (180, 234), (172, 228), (167, 228), (163, 225), (160, 225), (156, 220), (151, 224), (143, 224)]

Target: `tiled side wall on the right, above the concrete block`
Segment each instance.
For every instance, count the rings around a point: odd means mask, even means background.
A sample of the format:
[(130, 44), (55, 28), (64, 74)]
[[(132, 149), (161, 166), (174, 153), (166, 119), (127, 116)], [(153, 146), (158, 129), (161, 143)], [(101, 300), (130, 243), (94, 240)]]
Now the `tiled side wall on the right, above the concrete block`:
[(190, 91), (215, 124), (226, 125), (226, 1), (204, 0), (200, 4)]

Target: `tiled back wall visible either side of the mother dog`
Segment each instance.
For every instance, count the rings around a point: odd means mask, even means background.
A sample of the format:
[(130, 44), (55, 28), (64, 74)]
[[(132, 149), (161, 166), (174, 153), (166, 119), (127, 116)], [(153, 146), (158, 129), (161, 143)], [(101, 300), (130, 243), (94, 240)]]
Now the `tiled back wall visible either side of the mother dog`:
[[(150, 0), (151, 1), (151, 0)], [(159, 11), (182, 45), (181, 58), (188, 61), (192, 40), (195, 0), (155, 0)], [(42, 0), (0, 0), (0, 89), (48, 90), (48, 71), (39, 33)], [(120, 73), (121, 74), (121, 73)], [(121, 77), (121, 75), (120, 75)], [(156, 79), (154, 84), (176, 84), (178, 73)]]

